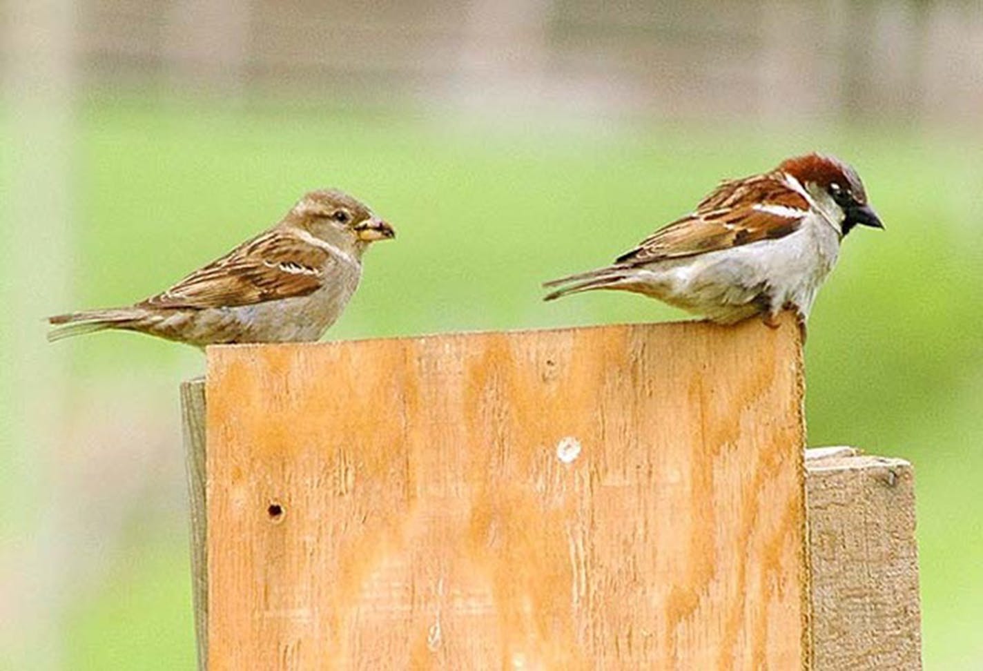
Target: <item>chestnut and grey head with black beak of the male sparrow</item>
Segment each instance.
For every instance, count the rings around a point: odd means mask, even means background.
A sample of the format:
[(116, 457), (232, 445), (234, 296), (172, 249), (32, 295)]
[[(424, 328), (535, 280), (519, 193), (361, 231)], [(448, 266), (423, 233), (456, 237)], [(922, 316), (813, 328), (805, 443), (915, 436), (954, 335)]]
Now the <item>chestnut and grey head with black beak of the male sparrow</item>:
[(793, 177), (823, 209), (839, 223), (846, 235), (857, 225), (884, 228), (867, 202), (867, 192), (856, 170), (834, 158), (811, 153), (782, 161), (779, 170)]

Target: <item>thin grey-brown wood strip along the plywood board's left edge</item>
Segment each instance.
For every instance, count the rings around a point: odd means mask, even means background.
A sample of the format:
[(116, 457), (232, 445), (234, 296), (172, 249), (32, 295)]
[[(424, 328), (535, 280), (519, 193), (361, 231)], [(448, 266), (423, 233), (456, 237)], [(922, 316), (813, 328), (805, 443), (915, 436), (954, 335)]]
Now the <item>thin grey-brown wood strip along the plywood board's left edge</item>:
[(184, 418), (185, 470), (188, 475), (191, 517), (191, 587), (195, 606), (195, 638), (198, 642), (198, 668), (203, 671), (208, 658), (208, 520), (204, 497), (206, 474), (203, 378), (181, 385), (181, 414)]

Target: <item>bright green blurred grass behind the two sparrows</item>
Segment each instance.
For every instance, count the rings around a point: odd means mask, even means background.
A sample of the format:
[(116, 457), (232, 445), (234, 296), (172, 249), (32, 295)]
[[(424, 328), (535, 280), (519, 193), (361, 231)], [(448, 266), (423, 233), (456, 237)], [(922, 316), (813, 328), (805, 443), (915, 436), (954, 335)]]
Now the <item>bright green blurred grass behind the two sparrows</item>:
[[(80, 106), (75, 140), (75, 297), (48, 311), (156, 292), (304, 191), (337, 186), (368, 200), (398, 238), (369, 252), (332, 339), (683, 318), (616, 293), (543, 304), (539, 284), (606, 263), (723, 177), (817, 148), (852, 162), (887, 230), (849, 236), (812, 314), (809, 441), (914, 463), (926, 666), (983, 666), (983, 159), (969, 150), (978, 137), (96, 98)], [(203, 366), (186, 348), (132, 334), (59, 346), (71, 348), (76, 389), (113, 371), (173, 371), (176, 396)], [(73, 596), (66, 662), (191, 669), (184, 520), (135, 515), (131, 526), (104, 579)]]

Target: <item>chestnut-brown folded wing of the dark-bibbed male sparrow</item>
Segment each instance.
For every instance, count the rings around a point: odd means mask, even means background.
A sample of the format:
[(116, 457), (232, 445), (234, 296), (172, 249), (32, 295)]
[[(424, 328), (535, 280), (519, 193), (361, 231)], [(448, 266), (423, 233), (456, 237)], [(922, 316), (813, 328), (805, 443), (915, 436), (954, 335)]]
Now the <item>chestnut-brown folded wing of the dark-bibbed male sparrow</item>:
[(650, 263), (777, 240), (798, 230), (808, 213), (809, 202), (779, 176), (723, 182), (695, 212), (659, 229), (616, 262)]

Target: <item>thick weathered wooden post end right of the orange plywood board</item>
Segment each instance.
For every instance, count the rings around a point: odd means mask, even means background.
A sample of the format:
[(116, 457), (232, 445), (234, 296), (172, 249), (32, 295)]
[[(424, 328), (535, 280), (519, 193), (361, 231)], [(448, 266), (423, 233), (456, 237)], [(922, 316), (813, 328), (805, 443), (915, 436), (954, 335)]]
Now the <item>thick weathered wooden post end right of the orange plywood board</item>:
[(921, 669), (911, 465), (840, 453), (806, 468), (814, 667)]

